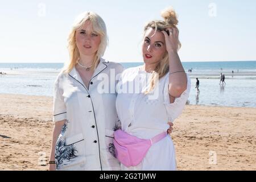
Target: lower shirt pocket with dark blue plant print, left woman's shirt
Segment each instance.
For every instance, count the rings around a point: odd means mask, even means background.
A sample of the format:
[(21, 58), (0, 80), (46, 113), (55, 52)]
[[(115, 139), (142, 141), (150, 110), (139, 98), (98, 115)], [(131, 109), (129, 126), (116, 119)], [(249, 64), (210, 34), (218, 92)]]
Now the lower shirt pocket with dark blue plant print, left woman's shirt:
[(86, 158), (85, 140), (82, 133), (58, 139), (55, 148), (55, 162), (58, 170), (84, 169)]

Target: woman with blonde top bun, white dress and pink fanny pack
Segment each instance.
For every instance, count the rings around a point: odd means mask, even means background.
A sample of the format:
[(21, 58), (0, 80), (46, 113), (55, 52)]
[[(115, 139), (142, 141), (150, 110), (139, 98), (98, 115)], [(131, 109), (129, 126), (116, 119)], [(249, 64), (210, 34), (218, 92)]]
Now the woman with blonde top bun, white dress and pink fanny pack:
[[(167, 122), (173, 122), (181, 114), (191, 88), (190, 79), (177, 54), (181, 45), (176, 13), (173, 9), (167, 9), (163, 11), (162, 17), (164, 20), (151, 21), (144, 28), (144, 65), (126, 69), (118, 82), (117, 113), (122, 130), (129, 134), (121, 135), (129, 138), (132, 136), (133, 144), (135, 141), (144, 144), (141, 139), (152, 139), (164, 133), (169, 127)], [(121, 140), (127, 142), (127, 138), (122, 136)], [(115, 140), (119, 141), (116, 135)], [(119, 144), (125, 146), (126, 143)], [(132, 152), (142, 152), (136, 150), (139, 144), (136, 145), (135, 149), (127, 147)], [(138, 156), (130, 152), (127, 154), (130, 157), (127, 162), (126, 153), (122, 149), (117, 150), (118, 159), (126, 162), (121, 164), (122, 170), (176, 169), (175, 148), (169, 135), (153, 143), (137, 166), (127, 166), (128, 162), (133, 162), (133, 157), (137, 160)], [(118, 156), (118, 152), (123, 156)]]

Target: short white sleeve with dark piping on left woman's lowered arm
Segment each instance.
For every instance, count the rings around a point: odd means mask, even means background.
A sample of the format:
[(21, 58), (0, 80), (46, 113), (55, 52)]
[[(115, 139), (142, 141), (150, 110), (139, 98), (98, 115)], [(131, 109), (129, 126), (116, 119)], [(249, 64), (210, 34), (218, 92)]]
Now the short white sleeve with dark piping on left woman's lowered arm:
[(67, 119), (67, 107), (64, 102), (63, 89), (59, 86), (59, 78), (54, 84), (54, 97), (53, 97), (53, 122), (62, 121)]

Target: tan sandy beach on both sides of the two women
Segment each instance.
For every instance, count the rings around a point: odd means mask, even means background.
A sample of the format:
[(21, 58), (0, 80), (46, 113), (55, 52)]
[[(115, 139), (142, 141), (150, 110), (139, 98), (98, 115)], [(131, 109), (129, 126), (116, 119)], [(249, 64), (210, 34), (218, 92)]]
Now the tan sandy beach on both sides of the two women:
[[(47, 170), (52, 97), (0, 94), (0, 103), (0, 169)], [(186, 105), (172, 138), (178, 170), (256, 170), (256, 108)]]

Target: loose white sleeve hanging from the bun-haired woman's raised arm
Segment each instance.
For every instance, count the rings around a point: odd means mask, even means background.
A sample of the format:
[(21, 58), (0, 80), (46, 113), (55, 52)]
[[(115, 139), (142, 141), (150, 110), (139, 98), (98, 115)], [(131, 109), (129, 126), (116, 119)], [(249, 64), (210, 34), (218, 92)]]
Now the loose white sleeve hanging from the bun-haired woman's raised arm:
[(164, 105), (166, 106), (168, 117), (173, 122), (177, 117), (179, 117), (179, 115), (182, 113), (185, 107), (185, 104), (188, 100), (190, 88), (191, 88), (191, 80), (187, 75), (187, 89), (181, 94), (180, 97), (175, 98), (174, 103), (170, 103), (168, 85), (169, 85), (169, 74), (165, 79), (163, 95), (164, 95)]

